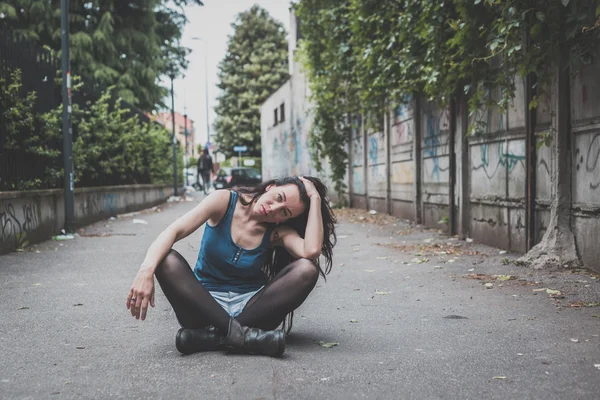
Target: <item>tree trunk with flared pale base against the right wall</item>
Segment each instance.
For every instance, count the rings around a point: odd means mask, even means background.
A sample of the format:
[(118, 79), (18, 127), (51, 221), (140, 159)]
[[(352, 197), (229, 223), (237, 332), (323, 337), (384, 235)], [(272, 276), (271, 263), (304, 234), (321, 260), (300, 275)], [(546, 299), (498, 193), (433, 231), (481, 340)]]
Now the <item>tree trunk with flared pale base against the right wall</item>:
[(572, 151), (570, 123), (570, 75), (565, 67), (568, 52), (563, 51), (556, 68), (554, 90), (552, 153), (556, 166), (552, 176), (554, 200), (550, 222), (544, 237), (519, 261), (535, 268), (569, 268), (581, 266), (577, 255), (575, 235), (571, 230), (572, 213)]

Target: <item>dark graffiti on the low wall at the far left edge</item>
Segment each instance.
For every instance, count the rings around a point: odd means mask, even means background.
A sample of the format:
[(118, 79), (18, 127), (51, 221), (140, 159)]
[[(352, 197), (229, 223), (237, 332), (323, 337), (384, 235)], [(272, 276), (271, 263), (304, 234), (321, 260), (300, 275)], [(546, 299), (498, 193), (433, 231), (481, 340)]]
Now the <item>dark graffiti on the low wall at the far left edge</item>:
[(17, 213), (12, 203), (4, 203), (0, 209), (0, 242), (14, 240), (15, 248), (29, 244), (28, 236), (39, 224), (38, 209), (34, 203), (23, 203), (21, 213)]

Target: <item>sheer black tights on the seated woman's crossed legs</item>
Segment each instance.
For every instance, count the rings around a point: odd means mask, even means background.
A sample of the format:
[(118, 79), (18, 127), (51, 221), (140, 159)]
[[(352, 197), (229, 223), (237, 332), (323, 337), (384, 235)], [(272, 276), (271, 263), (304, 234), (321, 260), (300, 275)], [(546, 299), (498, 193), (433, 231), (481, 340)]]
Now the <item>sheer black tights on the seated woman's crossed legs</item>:
[[(182, 327), (196, 329), (212, 325), (227, 334), (231, 317), (196, 279), (181, 254), (169, 251), (155, 274)], [(306, 300), (318, 277), (312, 261), (292, 262), (248, 301), (236, 320), (242, 326), (277, 328), (288, 313)]]

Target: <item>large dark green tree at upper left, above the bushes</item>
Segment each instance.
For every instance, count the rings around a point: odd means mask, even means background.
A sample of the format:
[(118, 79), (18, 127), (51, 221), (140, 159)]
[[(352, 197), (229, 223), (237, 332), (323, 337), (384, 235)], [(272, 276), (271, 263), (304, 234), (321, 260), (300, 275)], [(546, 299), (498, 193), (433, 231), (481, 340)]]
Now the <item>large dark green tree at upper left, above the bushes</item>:
[[(160, 78), (185, 69), (188, 49), (179, 40), (182, 7), (200, 0), (70, 0), (71, 69), (100, 87), (115, 86), (126, 102), (145, 111), (160, 107)], [(0, 0), (0, 24), (59, 56), (60, 0)]]

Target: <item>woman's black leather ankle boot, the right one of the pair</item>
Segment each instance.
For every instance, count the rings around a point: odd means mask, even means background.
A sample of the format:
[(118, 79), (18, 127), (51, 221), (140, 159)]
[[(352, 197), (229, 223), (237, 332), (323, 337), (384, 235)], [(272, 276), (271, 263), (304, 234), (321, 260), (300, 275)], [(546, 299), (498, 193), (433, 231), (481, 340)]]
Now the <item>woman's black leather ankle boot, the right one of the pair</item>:
[(285, 351), (285, 335), (281, 329), (263, 331), (241, 326), (237, 320), (231, 318), (227, 344), (242, 353), (280, 357)]

